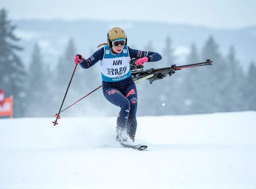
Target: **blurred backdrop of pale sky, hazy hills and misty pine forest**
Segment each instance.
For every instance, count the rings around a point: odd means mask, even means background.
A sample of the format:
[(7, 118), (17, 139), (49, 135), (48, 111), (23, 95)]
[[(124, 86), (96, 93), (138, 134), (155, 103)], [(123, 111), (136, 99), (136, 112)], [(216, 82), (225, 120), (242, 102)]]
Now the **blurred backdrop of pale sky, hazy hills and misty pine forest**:
[[(132, 49), (162, 55), (145, 69), (213, 61), (138, 83), (138, 116), (256, 110), (255, 8), (253, 0), (0, 0), (0, 89), (13, 99), (13, 117), (53, 117), (76, 54), (90, 57), (117, 26)], [(77, 66), (62, 110), (100, 85), (100, 62)], [(117, 116), (119, 109), (100, 88), (62, 116)]]

